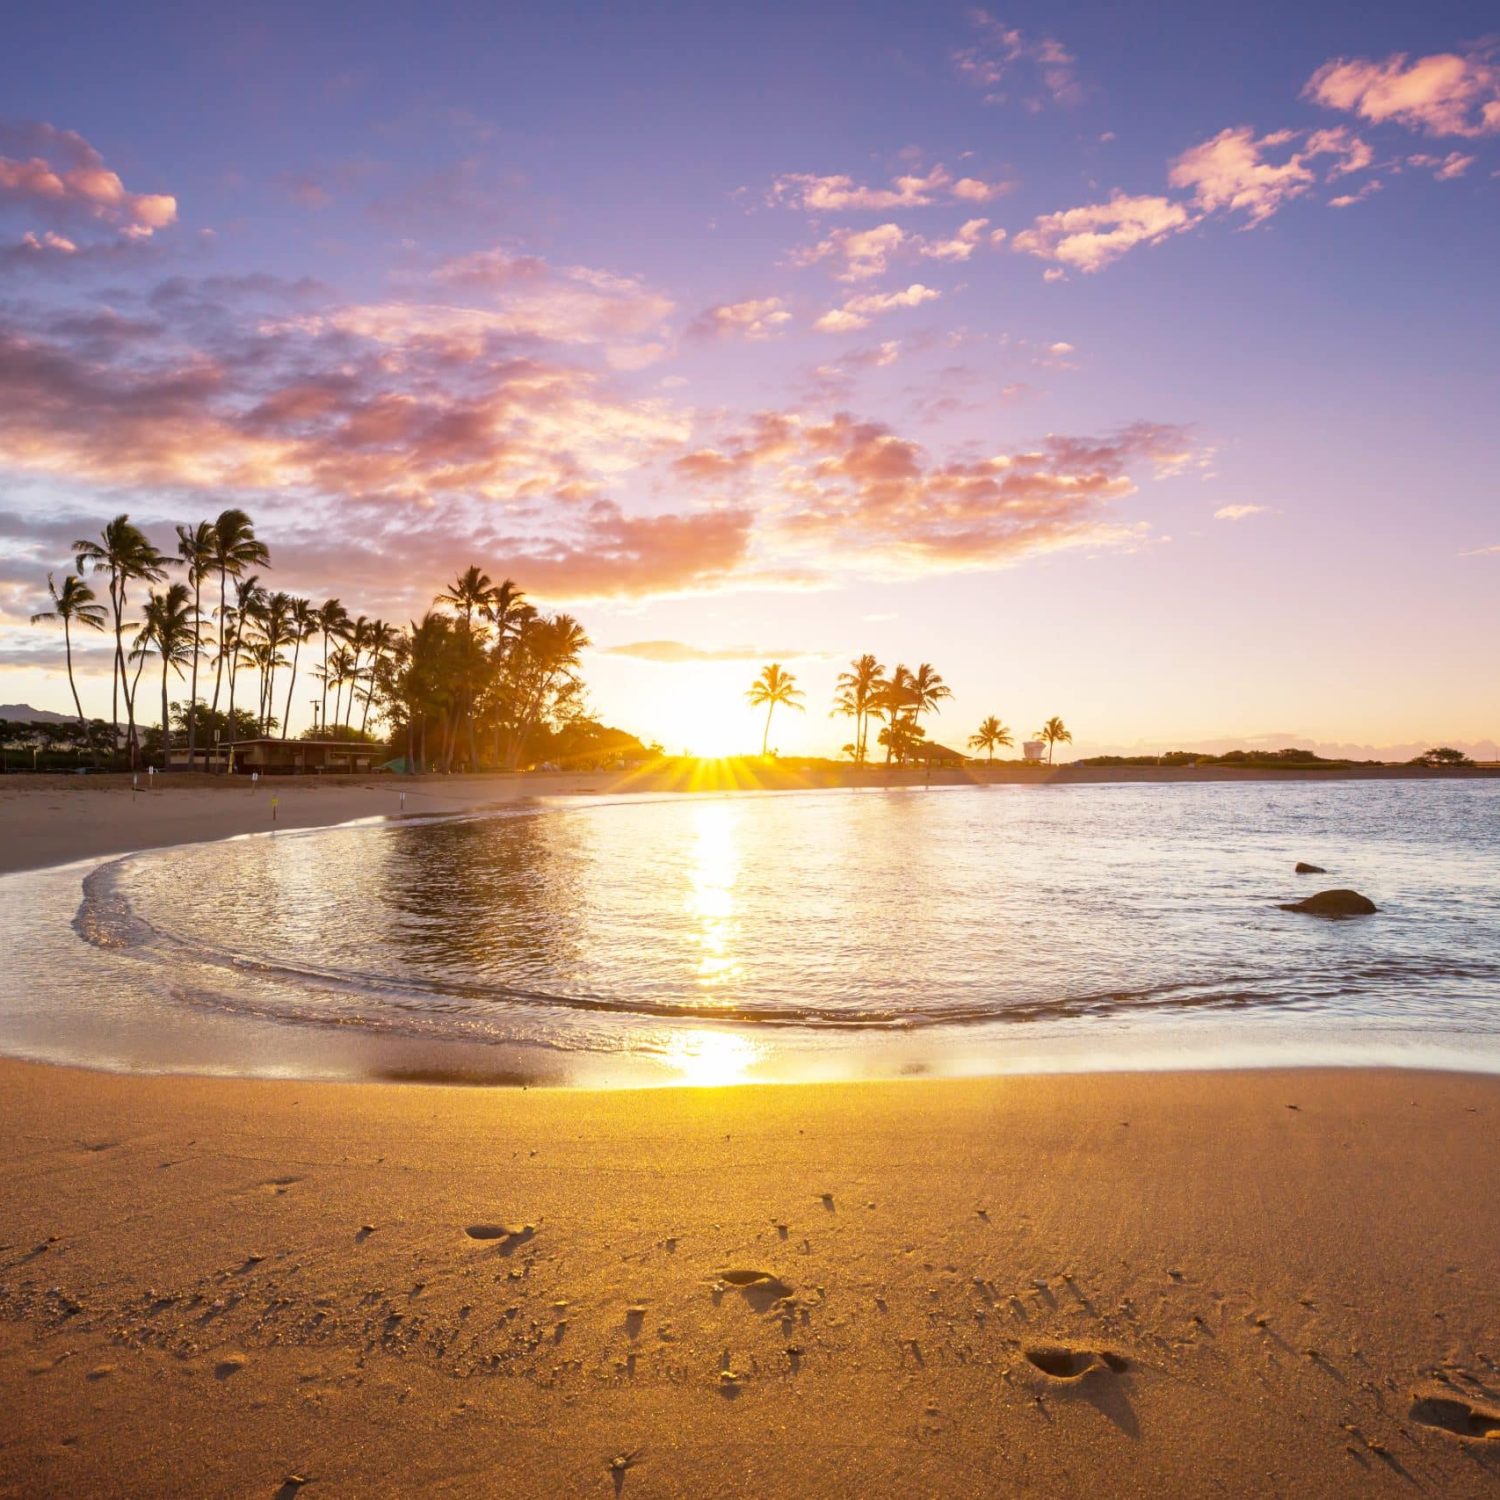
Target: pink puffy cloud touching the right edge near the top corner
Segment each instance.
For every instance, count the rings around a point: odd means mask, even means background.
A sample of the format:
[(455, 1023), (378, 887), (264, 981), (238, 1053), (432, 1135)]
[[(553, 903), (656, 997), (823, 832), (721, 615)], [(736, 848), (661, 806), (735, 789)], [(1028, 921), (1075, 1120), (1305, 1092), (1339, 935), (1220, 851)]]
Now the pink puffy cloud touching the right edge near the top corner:
[(1302, 94), (1376, 124), (1404, 124), (1426, 135), (1500, 132), (1500, 64), (1492, 46), (1434, 52), (1414, 62), (1406, 52), (1383, 62), (1341, 57), (1324, 63)]

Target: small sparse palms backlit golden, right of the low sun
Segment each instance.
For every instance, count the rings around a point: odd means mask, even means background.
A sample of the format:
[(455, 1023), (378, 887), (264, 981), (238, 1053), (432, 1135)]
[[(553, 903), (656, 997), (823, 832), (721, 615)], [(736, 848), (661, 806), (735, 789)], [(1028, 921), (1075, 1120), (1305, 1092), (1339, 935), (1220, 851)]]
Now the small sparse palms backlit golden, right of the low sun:
[[(870, 759), (870, 726), (878, 723), (880, 729), (876, 734), (876, 744), (885, 750), (885, 764), (904, 764), (920, 752), (927, 738), (921, 716), (939, 712), (938, 705), (951, 696), (952, 690), (944, 682), (942, 674), (928, 662), (922, 662), (915, 672), (902, 664), (886, 672), (876, 657), (868, 654), (856, 657), (849, 663), (848, 672), (838, 674), (834, 688), (834, 714), (854, 720), (854, 740), (844, 746), (844, 754), (855, 765), (866, 765)], [(771, 716), (776, 710), (784, 706), (801, 712), (804, 708), (796, 676), (778, 662), (760, 669), (760, 675), (746, 693), (746, 700), (752, 708), (765, 710), (760, 754), (770, 747)], [(1048, 718), (1036, 735), (1047, 742), (1048, 764), (1053, 748), (1072, 740), (1066, 724), (1056, 717)], [(969, 735), (969, 748), (986, 752), (988, 760), (994, 759), (996, 750), (1014, 742), (1011, 730), (993, 714)]]

